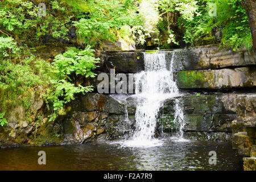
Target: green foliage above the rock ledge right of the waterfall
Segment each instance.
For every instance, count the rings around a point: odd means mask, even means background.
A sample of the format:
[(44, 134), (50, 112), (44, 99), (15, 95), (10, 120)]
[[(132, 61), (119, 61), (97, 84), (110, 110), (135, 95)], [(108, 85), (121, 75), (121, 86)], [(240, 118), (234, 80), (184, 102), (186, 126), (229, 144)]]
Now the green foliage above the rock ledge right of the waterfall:
[[(209, 16), (210, 3), (216, 4), (217, 16)], [(252, 47), (241, 0), (159, 0), (158, 4), (162, 18), (158, 28), (168, 34), (167, 43), (179, 43), (176, 41), (179, 36), (191, 46), (221, 42), (222, 47), (234, 50)], [(214, 31), (221, 32), (222, 38), (216, 40)]]

